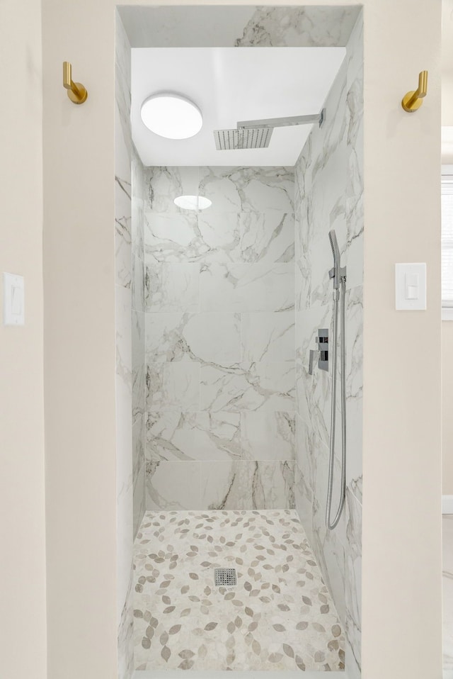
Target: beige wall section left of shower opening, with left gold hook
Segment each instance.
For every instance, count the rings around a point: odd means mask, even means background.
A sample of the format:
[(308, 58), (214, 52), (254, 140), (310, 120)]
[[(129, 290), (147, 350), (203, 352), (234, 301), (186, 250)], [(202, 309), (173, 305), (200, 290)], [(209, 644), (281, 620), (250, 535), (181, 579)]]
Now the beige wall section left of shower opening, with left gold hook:
[(42, 4), (49, 679), (116, 676), (114, 35), (105, 0)]

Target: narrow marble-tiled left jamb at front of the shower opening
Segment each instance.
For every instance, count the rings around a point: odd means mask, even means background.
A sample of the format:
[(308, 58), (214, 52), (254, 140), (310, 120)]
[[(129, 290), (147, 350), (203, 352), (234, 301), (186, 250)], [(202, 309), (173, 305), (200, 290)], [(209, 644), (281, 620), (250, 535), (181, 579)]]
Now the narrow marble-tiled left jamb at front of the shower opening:
[(133, 669), (132, 540), (132, 133), (130, 128), (130, 44), (115, 22), (115, 330), (117, 477), (117, 648), (118, 677)]

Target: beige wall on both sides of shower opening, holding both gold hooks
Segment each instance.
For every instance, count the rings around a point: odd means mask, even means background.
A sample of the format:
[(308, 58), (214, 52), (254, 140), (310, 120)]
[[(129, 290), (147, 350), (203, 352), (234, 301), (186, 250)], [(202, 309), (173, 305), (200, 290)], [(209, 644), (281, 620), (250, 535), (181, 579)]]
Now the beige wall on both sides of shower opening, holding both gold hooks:
[[(365, 679), (434, 679), (440, 266), (439, 230), (426, 225), (440, 223), (440, 5), (364, 5), (362, 667)], [(43, 0), (49, 679), (115, 676), (114, 6)], [(65, 58), (88, 86), (84, 107), (65, 99)], [(399, 102), (422, 68), (430, 94), (409, 116)], [(428, 262), (425, 313), (394, 310), (404, 261)]]

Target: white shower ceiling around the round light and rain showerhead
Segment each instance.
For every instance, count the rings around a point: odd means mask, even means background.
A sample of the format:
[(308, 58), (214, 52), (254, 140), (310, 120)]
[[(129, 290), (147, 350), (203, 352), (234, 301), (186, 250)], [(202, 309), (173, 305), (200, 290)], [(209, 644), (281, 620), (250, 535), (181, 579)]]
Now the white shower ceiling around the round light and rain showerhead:
[[(144, 165), (294, 165), (311, 125), (275, 128), (267, 149), (217, 151), (213, 130), (238, 120), (319, 113), (345, 57), (344, 47), (167, 47), (132, 50), (132, 138)], [(145, 128), (144, 99), (187, 96), (203, 127), (187, 140)], [(335, 116), (327, 111), (326, 116)]]

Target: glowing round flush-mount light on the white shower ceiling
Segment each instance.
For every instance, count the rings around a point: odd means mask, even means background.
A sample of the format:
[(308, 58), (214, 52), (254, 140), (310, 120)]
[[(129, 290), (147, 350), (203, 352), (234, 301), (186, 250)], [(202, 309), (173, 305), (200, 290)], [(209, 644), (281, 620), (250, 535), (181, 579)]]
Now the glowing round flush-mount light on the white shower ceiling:
[(200, 108), (178, 94), (153, 94), (142, 103), (140, 115), (144, 125), (159, 137), (188, 139), (200, 132), (203, 116)]

